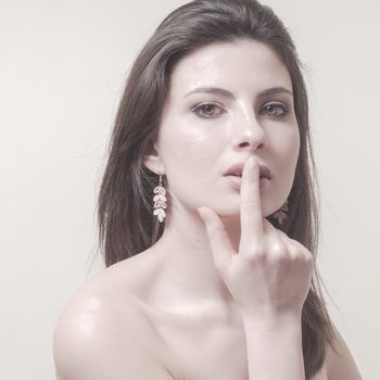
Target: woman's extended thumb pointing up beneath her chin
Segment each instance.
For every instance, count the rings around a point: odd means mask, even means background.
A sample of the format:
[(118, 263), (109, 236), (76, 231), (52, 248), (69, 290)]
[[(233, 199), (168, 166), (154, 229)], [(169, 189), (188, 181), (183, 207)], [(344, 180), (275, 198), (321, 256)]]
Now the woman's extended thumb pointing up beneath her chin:
[(214, 263), (218, 269), (225, 269), (229, 261), (236, 255), (225, 226), (218, 215), (211, 208), (200, 207), (198, 208), (198, 213), (206, 226)]

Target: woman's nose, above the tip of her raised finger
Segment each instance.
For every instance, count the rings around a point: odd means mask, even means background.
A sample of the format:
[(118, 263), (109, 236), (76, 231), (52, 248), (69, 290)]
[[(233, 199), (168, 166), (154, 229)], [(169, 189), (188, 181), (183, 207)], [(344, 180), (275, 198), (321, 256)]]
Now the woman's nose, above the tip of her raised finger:
[(245, 113), (236, 121), (232, 144), (236, 150), (245, 148), (253, 151), (267, 145), (266, 131), (253, 112)]

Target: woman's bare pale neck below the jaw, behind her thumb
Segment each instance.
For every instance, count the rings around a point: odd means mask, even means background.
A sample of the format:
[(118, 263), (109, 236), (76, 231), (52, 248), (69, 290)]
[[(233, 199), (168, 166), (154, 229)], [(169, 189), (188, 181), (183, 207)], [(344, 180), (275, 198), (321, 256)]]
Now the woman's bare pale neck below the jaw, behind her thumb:
[[(240, 221), (235, 216), (224, 218), (223, 223), (238, 251)], [(161, 255), (160, 292), (165, 294), (166, 304), (172, 303), (176, 308), (204, 302), (236, 308), (235, 300), (215, 267), (206, 228), (197, 212), (167, 219), (155, 248)]]

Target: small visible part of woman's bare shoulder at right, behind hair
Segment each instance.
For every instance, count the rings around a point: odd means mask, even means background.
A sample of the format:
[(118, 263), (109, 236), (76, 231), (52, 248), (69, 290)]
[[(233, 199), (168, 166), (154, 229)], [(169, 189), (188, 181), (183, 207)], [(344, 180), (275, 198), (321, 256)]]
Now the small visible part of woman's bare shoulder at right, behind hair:
[(329, 346), (326, 355), (328, 380), (362, 380), (355, 360), (334, 325), (333, 330), (335, 333), (334, 350)]

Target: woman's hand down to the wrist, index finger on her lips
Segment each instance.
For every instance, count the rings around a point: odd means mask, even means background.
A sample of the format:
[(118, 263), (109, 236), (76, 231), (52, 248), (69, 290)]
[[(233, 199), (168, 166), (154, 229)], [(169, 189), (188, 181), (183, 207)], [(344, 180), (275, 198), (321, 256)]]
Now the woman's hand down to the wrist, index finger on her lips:
[(244, 165), (241, 183), (241, 238), (233, 249), (217, 214), (199, 208), (216, 268), (243, 312), (258, 318), (301, 316), (314, 267), (313, 254), (263, 218), (259, 165)]

